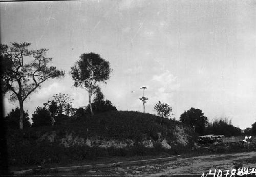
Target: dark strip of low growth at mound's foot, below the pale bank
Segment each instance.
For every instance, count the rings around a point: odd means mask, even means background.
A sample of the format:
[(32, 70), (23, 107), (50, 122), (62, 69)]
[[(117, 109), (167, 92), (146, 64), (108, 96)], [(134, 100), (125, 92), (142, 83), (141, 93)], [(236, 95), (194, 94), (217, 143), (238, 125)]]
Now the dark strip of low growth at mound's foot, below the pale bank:
[[(81, 160), (95, 160), (98, 157), (107, 156), (145, 156), (158, 154), (157, 148), (145, 148), (143, 145), (136, 145), (131, 148), (99, 148), (88, 146), (63, 147), (58, 144), (34, 143), (14, 146), (8, 149), (10, 165), (40, 165), (50, 163), (70, 163)], [(163, 149), (161, 149), (163, 151)]]

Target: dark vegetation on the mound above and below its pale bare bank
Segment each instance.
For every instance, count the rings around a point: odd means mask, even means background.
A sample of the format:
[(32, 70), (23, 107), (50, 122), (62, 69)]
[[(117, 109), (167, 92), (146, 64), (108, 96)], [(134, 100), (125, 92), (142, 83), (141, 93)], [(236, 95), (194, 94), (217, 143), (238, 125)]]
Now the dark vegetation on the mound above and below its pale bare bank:
[[(59, 140), (67, 133), (73, 132), (83, 138), (97, 136), (104, 139), (131, 139), (140, 142), (145, 138), (157, 140), (157, 133), (161, 132), (162, 138), (172, 142), (175, 140), (173, 133), (177, 124), (180, 122), (163, 119), (160, 125), (158, 116), (120, 111), (70, 119), (55, 126), (32, 127), (22, 133), (19, 130), (9, 131), (10, 164), (14, 166), (19, 166), (19, 164), (71, 164), (84, 160), (96, 160), (99, 157), (156, 156), (163, 151), (161, 148), (148, 150), (140, 145), (133, 149), (100, 149), (84, 146), (64, 148), (59, 145), (59, 142), (40, 142), (38, 139), (47, 132), (56, 131)], [(191, 133), (189, 130), (186, 131), (188, 134)], [(175, 150), (172, 153), (175, 153)]]

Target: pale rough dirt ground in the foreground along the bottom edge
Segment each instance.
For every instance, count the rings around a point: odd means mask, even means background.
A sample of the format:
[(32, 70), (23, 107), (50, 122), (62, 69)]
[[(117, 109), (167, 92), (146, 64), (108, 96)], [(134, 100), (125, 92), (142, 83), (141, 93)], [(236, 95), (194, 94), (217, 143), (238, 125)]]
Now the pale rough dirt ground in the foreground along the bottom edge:
[(88, 171), (70, 171), (51, 173), (50, 175), (168, 175), (168, 174), (202, 174), (209, 169), (232, 170), (234, 163), (245, 168), (256, 168), (256, 152), (241, 152), (178, 158), (161, 164), (135, 165), (127, 167), (101, 168)]

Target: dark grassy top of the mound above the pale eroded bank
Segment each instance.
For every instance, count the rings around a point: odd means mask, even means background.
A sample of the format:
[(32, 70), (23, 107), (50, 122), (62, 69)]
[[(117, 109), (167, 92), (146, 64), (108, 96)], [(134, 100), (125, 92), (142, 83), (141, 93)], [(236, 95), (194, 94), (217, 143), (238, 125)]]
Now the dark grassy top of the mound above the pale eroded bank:
[[(145, 137), (157, 140), (157, 133), (161, 132), (163, 137), (172, 138), (175, 126), (181, 123), (163, 118), (160, 125), (160, 119), (152, 114), (132, 111), (106, 112), (86, 118), (71, 119), (60, 125), (29, 128), (27, 132), (33, 136), (35, 132), (44, 134), (47, 131), (57, 130), (60, 134), (65, 134), (73, 131), (82, 137), (99, 136), (106, 139), (132, 140), (141, 140)], [(193, 134), (189, 131), (187, 133)]]

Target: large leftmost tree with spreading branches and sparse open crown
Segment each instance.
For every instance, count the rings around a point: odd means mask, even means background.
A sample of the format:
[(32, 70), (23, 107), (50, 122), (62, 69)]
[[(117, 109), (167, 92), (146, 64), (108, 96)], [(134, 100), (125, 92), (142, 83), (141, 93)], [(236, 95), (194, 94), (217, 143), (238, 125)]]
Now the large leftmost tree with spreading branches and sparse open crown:
[(30, 45), (28, 42), (0, 45), (2, 92), (11, 92), (9, 100), (19, 102), (20, 129), (23, 129), (24, 101), (41, 83), (65, 74), (53, 66), (48, 66), (52, 58), (46, 57), (47, 49), (29, 50)]

